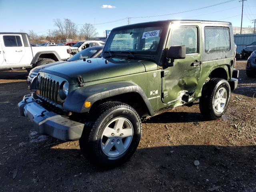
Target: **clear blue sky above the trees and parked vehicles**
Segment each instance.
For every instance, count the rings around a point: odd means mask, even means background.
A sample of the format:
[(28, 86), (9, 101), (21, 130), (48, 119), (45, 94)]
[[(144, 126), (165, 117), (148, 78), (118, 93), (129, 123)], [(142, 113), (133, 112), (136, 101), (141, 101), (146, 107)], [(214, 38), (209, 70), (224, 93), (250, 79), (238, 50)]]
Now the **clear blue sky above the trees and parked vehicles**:
[[(56, 28), (54, 19), (68, 18), (76, 24), (91, 23), (103, 36), (105, 30), (128, 24), (126, 17), (155, 16), (202, 8), (227, 0), (0, 0), (0, 32), (28, 32), (47, 34)], [(111, 5), (115, 8), (102, 8)], [(106, 7), (106, 6), (105, 6)], [(256, 0), (244, 2), (243, 27), (254, 24)], [(240, 27), (242, 2), (235, 0), (225, 4), (167, 16), (131, 18), (131, 24), (167, 19), (221, 20)], [(124, 20), (121, 20), (124, 19)], [(112, 22), (116, 21), (117, 22)], [(99, 24), (111, 22), (108, 24)], [(81, 25), (78, 25), (80, 27)]]

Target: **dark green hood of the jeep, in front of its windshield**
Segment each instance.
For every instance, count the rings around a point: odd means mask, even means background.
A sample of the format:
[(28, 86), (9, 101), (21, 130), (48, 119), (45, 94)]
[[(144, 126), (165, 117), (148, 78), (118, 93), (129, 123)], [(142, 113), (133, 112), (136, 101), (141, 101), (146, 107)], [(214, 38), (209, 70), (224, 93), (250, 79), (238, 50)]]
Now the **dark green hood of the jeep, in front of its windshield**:
[[(107, 62), (106, 62), (107, 61)], [(144, 64), (139, 60), (127, 58), (90, 58), (86, 61), (78, 60), (68, 64), (58, 64), (40, 70), (66, 78), (70, 84), (77, 83), (77, 76), (81, 75), (84, 82), (125, 76), (145, 72)]]

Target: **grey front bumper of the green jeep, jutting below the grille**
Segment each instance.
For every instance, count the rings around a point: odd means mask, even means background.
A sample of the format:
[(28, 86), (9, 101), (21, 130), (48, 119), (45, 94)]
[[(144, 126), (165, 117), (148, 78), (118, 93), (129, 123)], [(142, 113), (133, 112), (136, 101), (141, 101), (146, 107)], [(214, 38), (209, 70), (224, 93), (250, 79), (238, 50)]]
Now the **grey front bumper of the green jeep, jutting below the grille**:
[(40, 99), (34, 98), (35, 94), (25, 95), (18, 103), (21, 116), (27, 117), (33, 122), (34, 129), (39, 134), (50, 135), (64, 141), (79, 140), (84, 124), (64, 118), (42, 107)]

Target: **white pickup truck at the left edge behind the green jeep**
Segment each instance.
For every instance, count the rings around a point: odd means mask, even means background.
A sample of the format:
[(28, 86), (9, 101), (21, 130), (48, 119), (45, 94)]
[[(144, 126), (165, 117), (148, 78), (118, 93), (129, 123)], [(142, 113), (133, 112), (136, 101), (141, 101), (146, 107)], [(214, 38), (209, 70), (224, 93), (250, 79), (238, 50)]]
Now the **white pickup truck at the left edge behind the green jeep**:
[(0, 70), (32, 68), (70, 58), (69, 46), (31, 46), (26, 33), (0, 32)]

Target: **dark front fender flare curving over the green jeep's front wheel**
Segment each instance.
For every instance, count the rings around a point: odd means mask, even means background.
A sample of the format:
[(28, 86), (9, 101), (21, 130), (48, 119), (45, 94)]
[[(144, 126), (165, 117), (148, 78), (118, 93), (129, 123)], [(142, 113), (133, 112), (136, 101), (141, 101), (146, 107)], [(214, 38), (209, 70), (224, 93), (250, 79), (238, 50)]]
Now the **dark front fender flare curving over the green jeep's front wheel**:
[(132, 92), (138, 93), (142, 97), (148, 108), (148, 114), (154, 116), (154, 110), (143, 89), (131, 81), (109, 82), (78, 88), (68, 94), (63, 109), (77, 113), (89, 112), (91, 107), (85, 108), (85, 101), (90, 101), (93, 106), (99, 100)]

